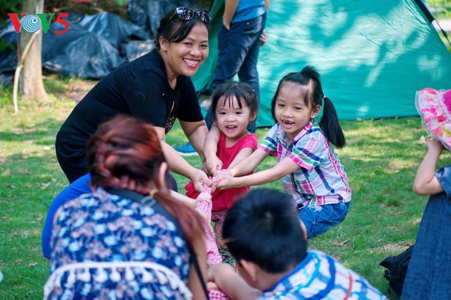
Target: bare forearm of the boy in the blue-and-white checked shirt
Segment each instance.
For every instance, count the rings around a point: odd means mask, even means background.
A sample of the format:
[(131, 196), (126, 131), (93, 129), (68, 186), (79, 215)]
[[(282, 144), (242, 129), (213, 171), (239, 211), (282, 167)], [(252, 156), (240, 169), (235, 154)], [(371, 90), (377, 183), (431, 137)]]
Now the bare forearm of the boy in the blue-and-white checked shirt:
[(226, 263), (212, 265), (208, 270), (208, 281), (214, 282), (231, 300), (257, 299), (262, 291), (252, 288)]

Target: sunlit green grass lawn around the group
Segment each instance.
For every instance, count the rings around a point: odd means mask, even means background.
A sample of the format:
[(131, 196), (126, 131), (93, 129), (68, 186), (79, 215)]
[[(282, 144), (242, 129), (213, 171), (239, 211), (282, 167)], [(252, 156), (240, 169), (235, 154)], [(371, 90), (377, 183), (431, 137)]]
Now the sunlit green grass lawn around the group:
[[(54, 94), (66, 84), (67, 80), (46, 80), (46, 88)], [(0, 91), (0, 269), (4, 275), (0, 299), (42, 299), (49, 265), (41, 254), (40, 233), (51, 200), (67, 185), (53, 143), (74, 102), (56, 96), (49, 103), (19, 100), (19, 114), (13, 115), (10, 95), (10, 89)], [(418, 117), (343, 121), (342, 125), (348, 145), (337, 152), (352, 188), (350, 213), (338, 227), (309, 240), (309, 247), (331, 254), (387, 294), (388, 281), (378, 264), (414, 242), (427, 200), (411, 192), (426, 151), (417, 141), (425, 131)], [(266, 130), (257, 130), (260, 140)], [(171, 145), (186, 141), (178, 124), (167, 139)], [(198, 157), (187, 160), (201, 166)], [(266, 159), (258, 169), (275, 162)], [(440, 166), (447, 164), (451, 164), (449, 152), (439, 161)], [(178, 175), (176, 179), (182, 190), (188, 180)], [(280, 182), (265, 186), (282, 188)]]

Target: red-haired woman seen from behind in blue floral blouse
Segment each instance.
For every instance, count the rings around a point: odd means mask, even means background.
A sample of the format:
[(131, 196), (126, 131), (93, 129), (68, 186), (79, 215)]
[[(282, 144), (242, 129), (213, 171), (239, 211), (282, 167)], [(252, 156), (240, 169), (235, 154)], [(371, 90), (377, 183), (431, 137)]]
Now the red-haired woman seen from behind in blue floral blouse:
[(94, 192), (56, 213), (44, 299), (205, 299), (203, 220), (167, 192), (153, 127), (112, 118), (87, 155)]

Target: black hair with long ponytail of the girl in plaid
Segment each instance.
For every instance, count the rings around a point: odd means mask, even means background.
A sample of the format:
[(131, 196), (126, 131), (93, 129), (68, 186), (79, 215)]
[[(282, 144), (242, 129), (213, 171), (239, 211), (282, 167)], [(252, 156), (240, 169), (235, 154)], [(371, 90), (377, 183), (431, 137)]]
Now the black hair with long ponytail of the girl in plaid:
[[(287, 84), (299, 85), (299, 97), (305, 101), (307, 107), (312, 108), (318, 105), (323, 107), (323, 116), (319, 122), (321, 130), (330, 143), (342, 148), (346, 144), (346, 139), (339, 123), (339, 118), (334, 105), (327, 98), (323, 92), (323, 85), (321, 85), (321, 76), (314, 67), (306, 66), (300, 72), (288, 73), (279, 82), (277, 90), (275, 91), (273, 100), (271, 101), (271, 113), (275, 122), (275, 102), (278, 98), (280, 89)], [(323, 104), (324, 102), (324, 104)]]

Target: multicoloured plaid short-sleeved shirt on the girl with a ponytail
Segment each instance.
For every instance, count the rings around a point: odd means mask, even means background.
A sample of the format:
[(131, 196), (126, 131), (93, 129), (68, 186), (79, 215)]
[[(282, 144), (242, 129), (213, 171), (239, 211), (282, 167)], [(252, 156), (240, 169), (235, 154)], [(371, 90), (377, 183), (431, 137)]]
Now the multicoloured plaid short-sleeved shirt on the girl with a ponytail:
[(350, 202), (348, 177), (324, 132), (312, 120), (287, 144), (287, 134), (275, 124), (259, 145), (278, 161), (288, 157), (299, 169), (282, 177), (284, 191), (301, 206)]

